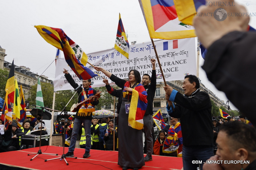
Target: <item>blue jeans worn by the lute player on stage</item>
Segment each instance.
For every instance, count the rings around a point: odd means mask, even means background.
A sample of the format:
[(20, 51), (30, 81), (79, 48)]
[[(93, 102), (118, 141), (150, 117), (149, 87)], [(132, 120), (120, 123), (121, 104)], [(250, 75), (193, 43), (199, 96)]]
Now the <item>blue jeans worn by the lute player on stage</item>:
[(90, 152), (90, 149), (91, 149), (91, 146), (92, 146), (91, 145), (92, 120), (85, 119), (85, 118), (75, 118), (68, 152), (74, 152), (74, 150), (75, 150), (76, 138), (77, 138), (77, 135), (78, 135), (78, 132), (79, 132), (79, 129), (80, 129), (82, 123), (84, 123), (84, 131), (85, 131), (85, 136), (86, 136), (85, 151)]

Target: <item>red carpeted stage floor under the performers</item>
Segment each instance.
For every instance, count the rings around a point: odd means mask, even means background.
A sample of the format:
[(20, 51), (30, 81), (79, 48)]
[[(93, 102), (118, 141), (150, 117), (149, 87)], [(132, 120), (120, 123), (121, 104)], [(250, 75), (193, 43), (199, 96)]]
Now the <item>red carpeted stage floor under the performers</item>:
[[(44, 161), (45, 159), (53, 159), (61, 157), (63, 147), (58, 146), (41, 146), (41, 151), (45, 153), (54, 153), (56, 155), (39, 154), (36, 158), (32, 159), (35, 155), (29, 155), (29, 153), (37, 153), (39, 147), (24, 149), (20, 151), (3, 152), (0, 153), (0, 169), (38, 169), (38, 170), (62, 170), (63, 168), (71, 169), (88, 169), (88, 170), (109, 170), (109, 169), (122, 169), (117, 165), (118, 152), (117, 151), (100, 151), (91, 150), (90, 157), (84, 159), (84, 149), (75, 148), (74, 154), (77, 157), (67, 158), (68, 164), (64, 160), (55, 159)], [(68, 152), (68, 148), (65, 148), (65, 153)], [(181, 170), (182, 159), (176, 157), (166, 157), (152, 155), (153, 160), (145, 162), (145, 166), (141, 170), (156, 170), (156, 169), (171, 169)]]

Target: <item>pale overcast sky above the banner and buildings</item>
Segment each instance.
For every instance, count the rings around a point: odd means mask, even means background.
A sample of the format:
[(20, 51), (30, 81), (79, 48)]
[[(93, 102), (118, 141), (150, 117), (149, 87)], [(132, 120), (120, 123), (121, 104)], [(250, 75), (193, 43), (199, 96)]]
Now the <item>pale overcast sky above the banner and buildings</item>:
[[(256, 12), (255, 0), (238, 2), (249, 12)], [(120, 12), (130, 43), (150, 41), (138, 0), (0, 0), (0, 7), (0, 46), (6, 50), (5, 60), (14, 59), (15, 65), (29, 67), (39, 75), (55, 59), (56, 48), (39, 35), (34, 25), (61, 28), (85, 53), (90, 53), (114, 47)], [(256, 17), (251, 17), (250, 25), (256, 28), (255, 23)], [(200, 66), (203, 62), (200, 57)], [(54, 79), (55, 62), (43, 75)], [(221, 100), (228, 100), (207, 80), (201, 67), (199, 78)]]

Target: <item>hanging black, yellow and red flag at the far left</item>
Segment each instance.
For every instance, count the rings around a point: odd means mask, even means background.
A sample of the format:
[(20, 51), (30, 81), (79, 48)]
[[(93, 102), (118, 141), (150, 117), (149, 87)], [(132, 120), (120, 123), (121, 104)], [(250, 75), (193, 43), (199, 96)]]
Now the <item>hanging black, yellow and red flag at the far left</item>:
[(5, 91), (7, 95), (9, 96), (9, 100), (11, 103), (13, 103), (14, 100), (14, 89), (15, 89), (15, 78), (14, 78), (14, 60), (12, 60), (12, 66), (10, 68), (8, 80), (6, 82)]

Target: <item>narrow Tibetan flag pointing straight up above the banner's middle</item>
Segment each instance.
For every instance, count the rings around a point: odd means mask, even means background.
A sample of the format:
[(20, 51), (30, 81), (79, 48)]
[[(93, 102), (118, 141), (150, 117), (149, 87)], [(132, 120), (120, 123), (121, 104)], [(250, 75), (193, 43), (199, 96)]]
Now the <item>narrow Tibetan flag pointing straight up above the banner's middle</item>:
[(124, 31), (124, 25), (120, 13), (116, 33), (115, 49), (129, 59), (129, 42)]

